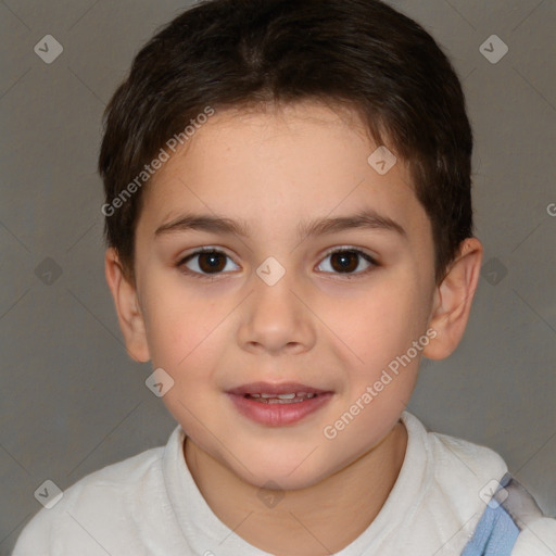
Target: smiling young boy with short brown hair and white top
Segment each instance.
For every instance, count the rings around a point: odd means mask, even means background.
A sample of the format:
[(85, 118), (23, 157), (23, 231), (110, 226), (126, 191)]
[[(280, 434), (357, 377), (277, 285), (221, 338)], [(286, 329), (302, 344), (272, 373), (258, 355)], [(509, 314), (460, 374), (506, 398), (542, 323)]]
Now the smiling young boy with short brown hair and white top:
[[(178, 426), (14, 556), (549, 555), (491, 450), (405, 410), (479, 279), (460, 84), (378, 0), (210, 0), (106, 109), (106, 279)], [(350, 263), (350, 264), (348, 264)]]

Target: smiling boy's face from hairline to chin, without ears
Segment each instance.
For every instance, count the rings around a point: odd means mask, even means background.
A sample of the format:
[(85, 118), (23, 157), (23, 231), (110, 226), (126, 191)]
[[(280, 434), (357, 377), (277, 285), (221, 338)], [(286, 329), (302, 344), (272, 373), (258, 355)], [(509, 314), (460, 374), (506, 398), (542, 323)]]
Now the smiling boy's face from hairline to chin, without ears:
[[(410, 363), (407, 353), (435, 292), (430, 222), (402, 162), (380, 175), (362, 129), (318, 104), (216, 113), (188, 144), (144, 192), (137, 227), (144, 349), (174, 379), (164, 403), (200, 448), (250, 483), (307, 486), (375, 446), (409, 400), (421, 351)], [(298, 235), (364, 211), (379, 224)], [(156, 233), (185, 215), (242, 223), (247, 235)], [(178, 266), (201, 248), (226, 256)], [(254, 382), (326, 393), (289, 404), (229, 393)]]

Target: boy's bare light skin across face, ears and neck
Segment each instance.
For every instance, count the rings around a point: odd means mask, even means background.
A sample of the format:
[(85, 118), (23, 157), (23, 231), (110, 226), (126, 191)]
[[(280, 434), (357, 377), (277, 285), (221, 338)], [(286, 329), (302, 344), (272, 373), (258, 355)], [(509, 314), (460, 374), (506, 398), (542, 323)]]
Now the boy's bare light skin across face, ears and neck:
[[(397, 478), (407, 444), (400, 416), (421, 355), (448, 356), (459, 343), (479, 277), (482, 247), (460, 245), (434, 281), (434, 245), (403, 161), (379, 175), (377, 146), (354, 114), (315, 102), (216, 113), (144, 191), (136, 232), (135, 285), (106, 251), (112, 291), (129, 355), (172, 376), (163, 402), (187, 432), (184, 455), (215, 515), (236, 534), (277, 555), (338, 552), (375, 519)], [(300, 222), (369, 208), (390, 229), (298, 237)], [(187, 213), (244, 220), (249, 235), (155, 230)], [(220, 274), (201, 247), (224, 251)], [(329, 251), (359, 249), (339, 269)], [(269, 256), (285, 276), (256, 274)], [(337, 255), (338, 256), (338, 255)], [(358, 264), (357, 264), (358, 263)], [(368, 271), (366, 271), (368, 270)], [(334, 424), (412, 342), (419, 352), (332, 440)], [(295, 381), (333, 391), (330, 401), (283, 427), (255, 424), (225, 393), (254, 381)], [(271, 480), (283, 497), (268, 507)], [(262, 491), (266, 492), (266, 491)]]

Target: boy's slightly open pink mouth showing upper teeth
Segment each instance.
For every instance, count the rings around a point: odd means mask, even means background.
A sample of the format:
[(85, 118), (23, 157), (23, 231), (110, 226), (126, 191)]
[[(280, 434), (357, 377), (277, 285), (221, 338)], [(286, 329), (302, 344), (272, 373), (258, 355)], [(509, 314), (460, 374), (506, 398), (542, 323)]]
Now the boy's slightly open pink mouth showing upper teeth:
[(323, 407), (333, 392), (289, 382), (253, 382), (226, 392), (240, 414), (261, 425), (293, 425)]

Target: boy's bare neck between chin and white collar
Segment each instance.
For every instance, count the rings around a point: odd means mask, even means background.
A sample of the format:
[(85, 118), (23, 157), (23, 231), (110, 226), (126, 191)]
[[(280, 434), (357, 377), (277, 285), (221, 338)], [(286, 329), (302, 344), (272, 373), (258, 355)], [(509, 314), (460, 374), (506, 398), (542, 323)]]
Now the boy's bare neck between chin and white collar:
[(407, 430), (397, 422), (346, 467), (285, 492), (268, 508), (262, 508), (258, 486), (238, 478), (189, 438), (184, 454), (206, 503), (236, 534), (277, 556), (320, 556), (341, 551), (375, 520), (397, 479), (406, 446)]

